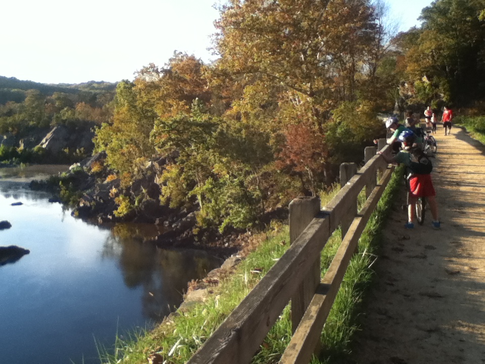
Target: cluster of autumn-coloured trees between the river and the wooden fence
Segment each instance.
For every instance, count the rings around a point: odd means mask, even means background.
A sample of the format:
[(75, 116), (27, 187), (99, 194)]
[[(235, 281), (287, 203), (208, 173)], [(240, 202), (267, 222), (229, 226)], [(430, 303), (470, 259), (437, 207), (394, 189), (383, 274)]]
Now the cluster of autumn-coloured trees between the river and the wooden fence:
[[(198, 206), (201, 226), (247, 228), (318, 194), (382, 131), (374, 90), (385, 54), (367, 0), (231, 0), (206, 65), (175, 53), (118, 85), (96, 148), (126, 180), (164, 158), (161, 202)], [(362, 154), (362, 153), (360, 153)]]

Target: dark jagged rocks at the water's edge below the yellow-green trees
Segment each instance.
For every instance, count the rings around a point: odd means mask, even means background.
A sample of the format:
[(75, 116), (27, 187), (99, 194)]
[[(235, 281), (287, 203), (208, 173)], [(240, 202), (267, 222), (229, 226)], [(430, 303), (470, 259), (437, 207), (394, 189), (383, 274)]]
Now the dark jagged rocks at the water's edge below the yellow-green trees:
[[(166, 159), (149, 163), (142, 175), (133, 180), (129, 187), (122, 186), (118, 178), (107, 178), (108, 171), (89, 173), (94, 163), (104, 165), (105, 159), (106, 153), (103, 152), (71, 166), (71, 173), (81, 168), (83, 172), (80, 177), (88, 181), (84, 186), (73, 182), (73, 186), (82, 191), (79, 203), (72, 211), (74, 216), (96, 224), (139, 222), (163, 225), (165, 232), (151, 238), (151, 241), (163, 246), (193, 242), (192, 229), (197, 223), (197, 206), (171, 208), (168, 204), (160, 203), (161, 189), (157, 176), (161, 174)], [(119, 205), (115, 199), (118, 196), (130, 200), (131, 210), (123, 216), (116, 214)]]

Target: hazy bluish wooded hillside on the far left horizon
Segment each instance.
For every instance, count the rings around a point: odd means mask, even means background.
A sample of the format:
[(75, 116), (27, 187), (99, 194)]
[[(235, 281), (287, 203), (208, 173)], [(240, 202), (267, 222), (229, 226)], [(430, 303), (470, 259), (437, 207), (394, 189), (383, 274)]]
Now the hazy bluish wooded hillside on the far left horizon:
[(0, 104), (9, 101), (21, 103), (25, 100), (25, 91), (37, 89), (45, 96), (54, 93), (78, 94), (80, 92), (106, 92), (114, 91), (117, 83), (104, 81), (88, 81), (79, 84), (46, 84), (33, 81), (19, 80), (15, 77), (0, 76)]

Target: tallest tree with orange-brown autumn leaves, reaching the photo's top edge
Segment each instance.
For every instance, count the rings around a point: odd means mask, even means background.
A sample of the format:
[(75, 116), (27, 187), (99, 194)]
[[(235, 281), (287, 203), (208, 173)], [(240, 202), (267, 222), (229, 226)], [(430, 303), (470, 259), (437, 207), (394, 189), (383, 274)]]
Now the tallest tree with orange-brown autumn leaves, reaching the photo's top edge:
[[(312, 174), (320, 182), (327, 175), (331, 183), (324, 135), (332, 110), (341, 103), (369, 104), (363, 96), (364, 81), (375, 76), (370, 62), (378, 61), (380, 44), (374, 8), (364, 0), (232, 0), (221, 8), (217, 28), (217, 70), (239, 90), (226, 117), (258, 123), (271, 135), (275, 156), (284, 150), (300, 151), (300, 159), (313, 156), (306, 164), (320, 170)], [(291, 135), (304, 128), (292, 125), (300, 124), (319, 138), (321, 147), (315, 153), (288, 144), (298, 140)]]

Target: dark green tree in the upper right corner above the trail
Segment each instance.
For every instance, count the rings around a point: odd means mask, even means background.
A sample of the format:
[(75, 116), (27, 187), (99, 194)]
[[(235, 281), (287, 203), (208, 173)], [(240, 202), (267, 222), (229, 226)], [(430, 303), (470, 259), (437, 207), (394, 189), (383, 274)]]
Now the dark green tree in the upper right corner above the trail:
[(439, 0), (421, 12), (416, 42), (406, 51), (416, 101), (463, 103), (485, 91), (485, 26), (482, 0)]

